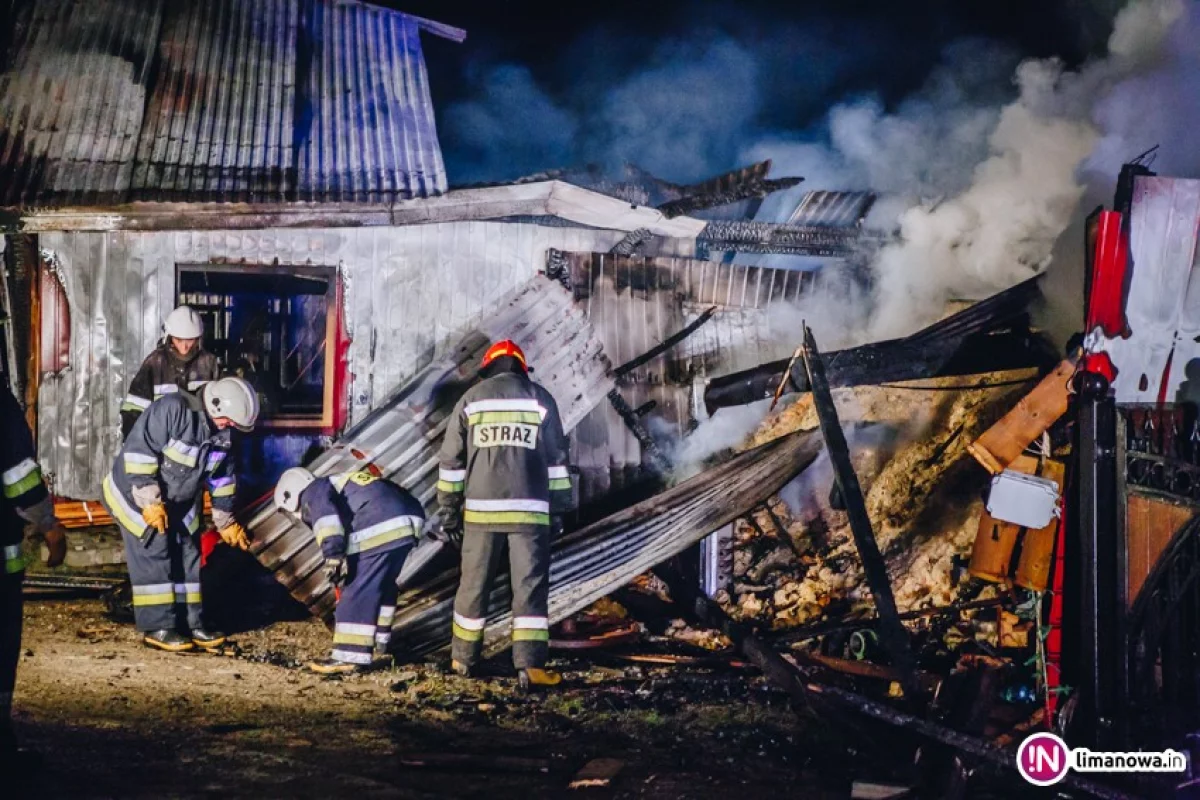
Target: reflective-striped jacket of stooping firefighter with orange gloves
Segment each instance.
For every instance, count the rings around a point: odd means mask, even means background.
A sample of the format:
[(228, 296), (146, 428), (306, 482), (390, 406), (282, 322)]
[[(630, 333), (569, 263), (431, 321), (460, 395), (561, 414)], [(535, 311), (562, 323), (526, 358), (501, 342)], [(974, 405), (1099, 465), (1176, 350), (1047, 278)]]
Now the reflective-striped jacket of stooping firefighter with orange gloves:
[(200, 527), (200, 495), (212, 497), (212, 523), (233, 523), (234, 495), (229, 431), (218, 431), (192, 395), (173, 393), (150, 404), (130, 431), (113, 471), (103, 483), (104, 505), (139, 539), (150, 528), (142, 509), (166, 503), (168, 509), (190, 505), (182, 519), (190, 533)]

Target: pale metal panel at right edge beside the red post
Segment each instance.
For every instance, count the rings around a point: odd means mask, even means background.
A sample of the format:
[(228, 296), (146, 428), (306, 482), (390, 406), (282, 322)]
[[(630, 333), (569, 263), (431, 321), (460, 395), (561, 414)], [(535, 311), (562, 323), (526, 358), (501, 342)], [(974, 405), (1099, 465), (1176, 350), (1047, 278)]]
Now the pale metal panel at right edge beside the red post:
[(1118, 403), (1156, 403), (1164, 379), (1166, 402), (1200, 401), (1198, 223), (1200, 180), (1135, 180), (1126, 301), (1132, 336), (1105, 342)]

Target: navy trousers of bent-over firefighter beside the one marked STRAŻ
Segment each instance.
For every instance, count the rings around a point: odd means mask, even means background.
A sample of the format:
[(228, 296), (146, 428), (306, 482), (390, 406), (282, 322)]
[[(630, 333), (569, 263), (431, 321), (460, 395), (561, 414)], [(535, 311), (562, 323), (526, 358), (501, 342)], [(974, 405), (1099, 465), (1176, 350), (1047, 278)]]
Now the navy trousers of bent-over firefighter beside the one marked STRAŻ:
[(410, 549), (408, 541), (382, 553), (367, 551), (347, 557), (348, 579), (334, 612), (334, 658), (370, 664), (376, 649), (388, 649), (400, 593), (396, 578)]

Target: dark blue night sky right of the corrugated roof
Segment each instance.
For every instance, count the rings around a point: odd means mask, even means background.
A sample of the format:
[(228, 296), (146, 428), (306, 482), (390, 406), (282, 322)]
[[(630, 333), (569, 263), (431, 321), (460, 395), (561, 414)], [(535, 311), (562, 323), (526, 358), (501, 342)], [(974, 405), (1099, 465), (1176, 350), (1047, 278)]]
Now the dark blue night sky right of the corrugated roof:
[[(890, 110), (938, 71), (1003, 100), (1022, 58), (1078, 64), (1118, 0), (607, 0), (384, 5), (464, 28), (424, 37), (451, 184), (635, 162), (671, 180), (818, 140), (829, 108)], [(992, 97), (984, 97), (992, 95)]]

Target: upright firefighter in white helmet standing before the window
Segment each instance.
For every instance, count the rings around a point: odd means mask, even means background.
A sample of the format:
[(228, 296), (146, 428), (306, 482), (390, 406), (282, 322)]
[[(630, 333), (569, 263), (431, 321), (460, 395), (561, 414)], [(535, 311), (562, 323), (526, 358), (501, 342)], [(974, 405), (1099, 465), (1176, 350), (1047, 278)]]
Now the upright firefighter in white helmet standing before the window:
[(121, 438), (128, 439), (133, 423), (150, 403), (175, 392), (196, 393), (216, 380), (217, 357), (204, 349), (204, 323), (191, 306), (180, 306), (163, 321), (166, 338), (142, 362), (130, 392), (121, 402)]

